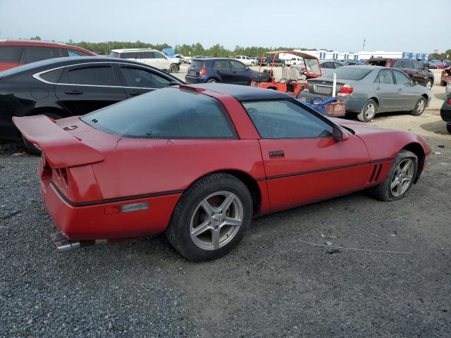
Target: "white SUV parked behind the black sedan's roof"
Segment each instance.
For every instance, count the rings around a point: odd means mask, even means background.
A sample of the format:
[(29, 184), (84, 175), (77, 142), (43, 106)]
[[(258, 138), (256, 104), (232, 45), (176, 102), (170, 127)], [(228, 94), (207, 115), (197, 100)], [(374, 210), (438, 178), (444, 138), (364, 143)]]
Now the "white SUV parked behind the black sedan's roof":
[(178, 73), (180, 70), (180, 58), (169, 58), (156, 49), (112, 49), (110, 57), (126, 58), (132, 61), (147, 63), (147, 65), (152, 65), (152, 67), (168, 70), (169, 73)]

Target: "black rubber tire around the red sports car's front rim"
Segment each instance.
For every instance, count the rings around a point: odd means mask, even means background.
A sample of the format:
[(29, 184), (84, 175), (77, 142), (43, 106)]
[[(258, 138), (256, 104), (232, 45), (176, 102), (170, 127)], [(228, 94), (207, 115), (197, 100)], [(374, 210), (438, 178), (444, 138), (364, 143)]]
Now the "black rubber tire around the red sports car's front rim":
[[(414, 166), (412, 180), (410, 180), (409, 186), (407, 187), (407, 189), (405, 189), (404, 192), (402, 192), (402, 194), (400, 194), (400, 196), (395, 196), (391, 189), (391, 184), (393, 182), (393, 179), (395, 178), (394, 175), (396, 175), (395, 171), (397, 170), (398, 165), (400, 165), (400, 163), (406, 161), (407, 159), (410, 159)], [(418, 170), (418, 157), (411, 151), (403, 149), (397, 154), (395, 161), (393, 162), (392, 168), (390, 169), (390, 172), (388, 173), (387, 177), (385, 177), (383, 183), (378, 185), (377, 187), (373, 187), (372, 189), (370, 189), (371, 196), (381, 201), (397, 201), (398, 199), (403, 199), (404, 196), (406, 196), (407, 192), (409, 192), (410, 188), (412, 188), (412, 185), (414, 184), (417, 170)]]

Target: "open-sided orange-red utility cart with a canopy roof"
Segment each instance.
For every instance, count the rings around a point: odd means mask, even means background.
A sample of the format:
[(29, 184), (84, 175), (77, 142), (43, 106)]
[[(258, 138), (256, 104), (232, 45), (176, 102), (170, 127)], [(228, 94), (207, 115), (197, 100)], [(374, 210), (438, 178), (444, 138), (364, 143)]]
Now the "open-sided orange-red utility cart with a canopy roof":
[[(292, 66), (282, 67), (282, 76), (277, 79), (273, 68), (280, 54), (291, 54), (302, 58), (303, 62)], [(271, 66), (268, 61), (271, 61)], [(288, 63), (288, 62), (287, 62)], [(285, 63), (286, 64), (286, 63)], [(316, 56), (302, 53), (300, 51), (268, 51), (260, 59), (260, 75), (251, 82), (252, 87), (276, 89), (295, 96), (302, 87), (307, 88), (307, 79), (320, 77), (322, 75), (319, 60)]]

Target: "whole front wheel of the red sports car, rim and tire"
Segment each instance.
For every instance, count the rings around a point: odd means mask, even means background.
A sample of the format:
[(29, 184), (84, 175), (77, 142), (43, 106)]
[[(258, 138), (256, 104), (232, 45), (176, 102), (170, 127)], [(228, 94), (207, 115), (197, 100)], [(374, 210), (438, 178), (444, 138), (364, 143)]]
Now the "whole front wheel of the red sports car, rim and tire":
[(381, 201), (397, 201), (404, 198), (414, 183), (418, 170), (418, 157), (412, 151), (400, 151), (390, 173), (382, 184), (371, 189), (371, 194)]

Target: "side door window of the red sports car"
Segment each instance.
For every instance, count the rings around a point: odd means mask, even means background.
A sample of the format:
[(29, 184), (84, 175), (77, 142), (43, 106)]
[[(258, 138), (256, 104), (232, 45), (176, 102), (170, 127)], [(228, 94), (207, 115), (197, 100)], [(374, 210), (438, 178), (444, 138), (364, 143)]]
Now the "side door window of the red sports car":
[(264, 139), (332, 137), (332, 126), (292, 101), (243, 103)]

